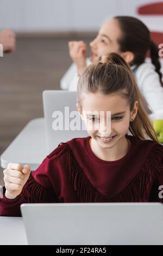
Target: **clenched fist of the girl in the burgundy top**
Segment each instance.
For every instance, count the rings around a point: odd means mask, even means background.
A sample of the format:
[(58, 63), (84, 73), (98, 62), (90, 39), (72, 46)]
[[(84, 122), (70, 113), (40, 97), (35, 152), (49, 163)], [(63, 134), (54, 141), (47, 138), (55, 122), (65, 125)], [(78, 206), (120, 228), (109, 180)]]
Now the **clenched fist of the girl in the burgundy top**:
[(21, 166), (19, 163), (9, 163), (7, 169), (3, 171), (5, 182), (5, 197), (16, 198), (26, 184), (30, 175), (30, 166)]

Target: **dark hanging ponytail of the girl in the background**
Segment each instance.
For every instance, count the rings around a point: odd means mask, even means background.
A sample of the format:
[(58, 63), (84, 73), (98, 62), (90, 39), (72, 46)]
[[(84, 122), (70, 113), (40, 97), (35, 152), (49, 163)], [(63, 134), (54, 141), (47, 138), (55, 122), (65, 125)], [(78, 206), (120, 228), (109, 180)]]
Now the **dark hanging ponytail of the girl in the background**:
[[(155, 66), (155, 71), (159, 74), (160, 82), (162, 84), (162, 74), (160, 72), (161, 65), (160, 65), (160, 62), (159, 62), (158, 46), (156, 46), (156, 44), (153, 41), (151, 41), (150, 51), (151, 51), (152, 63)], [(163, 84), (162, 84), (162, 86), (163, 86)]]

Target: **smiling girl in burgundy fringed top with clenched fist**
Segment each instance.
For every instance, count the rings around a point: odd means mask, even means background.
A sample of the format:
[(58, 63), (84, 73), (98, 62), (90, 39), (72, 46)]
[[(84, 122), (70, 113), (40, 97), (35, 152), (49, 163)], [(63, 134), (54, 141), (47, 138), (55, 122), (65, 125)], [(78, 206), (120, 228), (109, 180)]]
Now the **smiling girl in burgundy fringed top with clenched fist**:
[(90, 136), (60, 143), (35, 172), (10, 163), (1, 215), (20, 216), (22, 203), (163, 202), (163, 146), (125, 60), (111, 53), (89, 65), (79, 79), (77, 102)]

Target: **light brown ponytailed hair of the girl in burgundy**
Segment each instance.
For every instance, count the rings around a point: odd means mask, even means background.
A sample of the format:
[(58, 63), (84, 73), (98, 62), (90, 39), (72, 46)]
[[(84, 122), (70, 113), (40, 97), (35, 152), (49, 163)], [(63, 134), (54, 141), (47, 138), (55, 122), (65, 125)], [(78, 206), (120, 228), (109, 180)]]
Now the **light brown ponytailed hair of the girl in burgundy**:
[(129, 103), (130, 111), (135, 101), (139, 108), (134, 121), (130, 122), (129, 131), (139, 139), (147, 136), (158, 142), (151, 120), (143, 110), (147, 103), (143, 100), (137, 87), (133, 73), (126, 61), (117, 53), (108, 53), (92, 63), (83, 71), (77, 87), (77, 102), (82, 111), (83, 93), (120, 93)]

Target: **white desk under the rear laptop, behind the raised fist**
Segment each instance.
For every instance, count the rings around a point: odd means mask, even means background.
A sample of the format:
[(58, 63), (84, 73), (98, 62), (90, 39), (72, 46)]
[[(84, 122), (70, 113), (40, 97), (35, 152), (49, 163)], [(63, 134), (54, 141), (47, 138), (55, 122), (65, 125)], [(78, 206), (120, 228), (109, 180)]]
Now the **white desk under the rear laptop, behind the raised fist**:
[(44, 118), (36, 118), (24, 127), (1, 155), (1, 167), (8, 163), (29, 164), (35, 170), (47, 155)]

